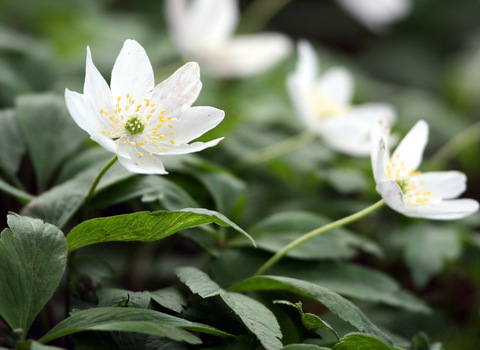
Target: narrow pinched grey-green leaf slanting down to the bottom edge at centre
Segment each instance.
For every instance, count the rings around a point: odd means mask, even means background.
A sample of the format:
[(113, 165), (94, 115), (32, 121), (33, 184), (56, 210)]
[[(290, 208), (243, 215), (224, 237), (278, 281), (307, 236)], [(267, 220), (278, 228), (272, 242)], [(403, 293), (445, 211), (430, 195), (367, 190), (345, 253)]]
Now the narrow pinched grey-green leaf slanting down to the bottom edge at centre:
[(207, 274), (194, 267), (179, 268), (177, 275), (193, 293), (203, 298), (219, 295), (267, 350), (282, 348), (278, 339), (282, 337), (280, 326), (273, 313), (263, 304), (246, 295), (224, 291)]

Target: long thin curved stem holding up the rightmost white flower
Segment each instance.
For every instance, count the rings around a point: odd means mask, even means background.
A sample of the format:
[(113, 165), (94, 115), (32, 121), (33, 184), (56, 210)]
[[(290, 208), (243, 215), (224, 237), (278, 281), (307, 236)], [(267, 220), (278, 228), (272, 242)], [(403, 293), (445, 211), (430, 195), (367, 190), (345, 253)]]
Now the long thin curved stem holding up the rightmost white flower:
[(368, 208), (365, 208), (358, 213), (349, 215), (347, 217), (344, 217), (343, 219), (331, 222), (325, 226), (319, 227), (313, 231), (310, 231), (303, 236), (297, 238), (293, 242), (287, 244), (283, 249), (279, 250), (274, 256), (272, 256), (265, 264), (263, 264), (258, 271), (255, 273), (254, 276), (259, 276), (263, 274), (265, 271), (270, 269), (273, 265), (275, 265), (281, 258), (285, 256), (289, 251), (292, 249), (298, 247), (300, 244), (308, 241), (309, 239), (316, 237), (318, 235), (321, 235), (322, 233), (325, 233), (327, 231), (333, 230), (334, 228), (341, 227), (347, 224), (350, 224), (354, 221), (357, 221), (358, 219), (363, 218), (364, 216), (367, 216), (368, 214), (374, 212), (378, 208), (381, 208), (385, 204), (385, 201), (383, 199), (379, 200), (377, 203), (372, 204)]

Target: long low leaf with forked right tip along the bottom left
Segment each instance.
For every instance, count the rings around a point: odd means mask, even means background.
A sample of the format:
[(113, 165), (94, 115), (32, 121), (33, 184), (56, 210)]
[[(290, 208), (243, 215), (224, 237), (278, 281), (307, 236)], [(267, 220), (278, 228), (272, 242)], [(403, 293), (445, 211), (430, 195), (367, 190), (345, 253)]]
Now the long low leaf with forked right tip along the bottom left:
[(47, 343), (53, 339), (87, 330), (138, 332), (158, 335), (189, 344), (200, 344), (196, 336), (186, 330), (202, 332), (217, 337), (229, 337), (228, 333), (213, 327), (194, 323), (161, 312), (125, 308), (103, 307), (79, 311), (63, 320), (39, 341)]

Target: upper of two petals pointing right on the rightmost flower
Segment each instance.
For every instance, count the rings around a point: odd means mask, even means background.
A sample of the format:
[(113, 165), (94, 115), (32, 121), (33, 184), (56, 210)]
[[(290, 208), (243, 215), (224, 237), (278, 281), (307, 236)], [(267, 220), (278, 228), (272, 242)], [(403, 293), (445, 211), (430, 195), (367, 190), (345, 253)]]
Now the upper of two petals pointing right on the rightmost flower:
[(467, 188), (467, 177), (459, 171), (438, 171), (422, 173), (415, 178), (416, 183), (435, 196), (445, 199), (457, 198)]

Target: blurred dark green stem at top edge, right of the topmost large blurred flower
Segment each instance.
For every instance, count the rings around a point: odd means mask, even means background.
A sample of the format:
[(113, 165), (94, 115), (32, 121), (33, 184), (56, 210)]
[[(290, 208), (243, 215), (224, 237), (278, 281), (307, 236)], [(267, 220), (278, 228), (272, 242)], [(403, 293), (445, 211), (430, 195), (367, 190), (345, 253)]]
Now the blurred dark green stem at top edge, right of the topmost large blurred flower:
[(257, 0), (242, 15), (239, 32), (259, 32), (282, 7), (292, 0)]

